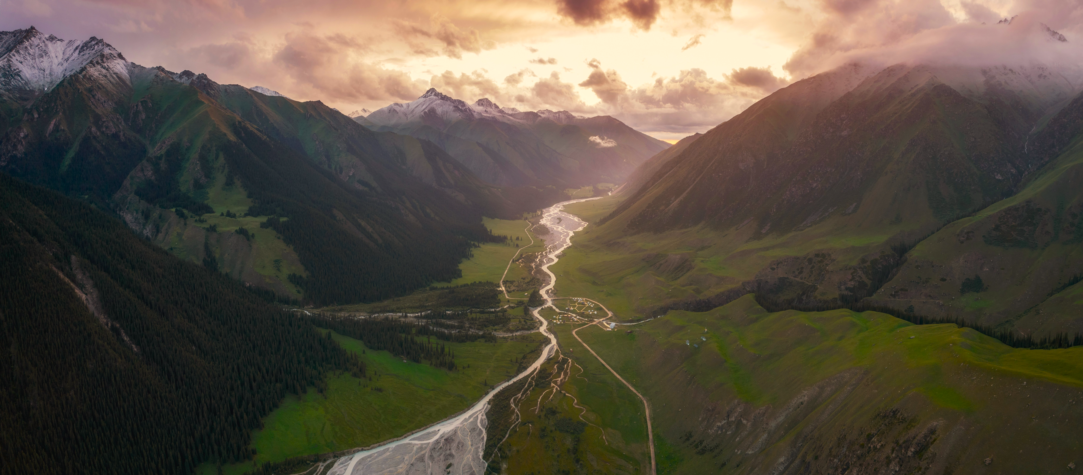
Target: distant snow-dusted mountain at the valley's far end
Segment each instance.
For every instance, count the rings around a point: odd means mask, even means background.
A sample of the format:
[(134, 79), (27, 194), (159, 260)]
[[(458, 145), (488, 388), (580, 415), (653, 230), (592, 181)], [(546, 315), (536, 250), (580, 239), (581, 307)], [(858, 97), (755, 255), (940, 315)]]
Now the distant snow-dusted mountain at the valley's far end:
[(623, 182), (636, 166), (669, 146), (610, 116), (520, 112), (488, 99), (467, 104), (435, 89), (355, 120), (373, 130), (429, 140), (482, 180), (511, 187)]

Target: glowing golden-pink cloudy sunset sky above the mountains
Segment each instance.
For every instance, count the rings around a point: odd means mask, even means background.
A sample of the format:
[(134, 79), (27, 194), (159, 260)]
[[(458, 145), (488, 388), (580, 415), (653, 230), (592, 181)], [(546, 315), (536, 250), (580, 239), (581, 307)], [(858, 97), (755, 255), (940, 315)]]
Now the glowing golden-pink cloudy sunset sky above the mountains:
[(847, 62), (1073, 62), (1083, 51), (1080, 0), (0, 0), (0, 30), (30, 25), (343, 113), (436, 88), (612, 115), (670, 141)]

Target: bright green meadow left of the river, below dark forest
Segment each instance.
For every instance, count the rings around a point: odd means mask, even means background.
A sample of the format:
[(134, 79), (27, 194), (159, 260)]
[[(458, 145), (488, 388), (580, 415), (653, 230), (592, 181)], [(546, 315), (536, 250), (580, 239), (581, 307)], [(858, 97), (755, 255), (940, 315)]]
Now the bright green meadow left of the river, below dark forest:
[[(252, 470), (253, 463), (366, 447), (402, 436), (467, 409), (490, 387), (517, 369), (512, 359), (534, 350), (545, 338), (518, 335), (491, 343), (445, 343), (456, 354), (457, 371), (404, 362), (388, 351), (367, 349), (360, 341), (331, 332), (347, 350), (357, 354), (373, 381), (328, 374), (327, 390), (310, 388), (290, 395), (253, 431), (253, 462), (224, 466), (227, 474)], [(376, 390), (377, 388), (382, 390)], [(213, 474), (204, 464), (197, 473)]]

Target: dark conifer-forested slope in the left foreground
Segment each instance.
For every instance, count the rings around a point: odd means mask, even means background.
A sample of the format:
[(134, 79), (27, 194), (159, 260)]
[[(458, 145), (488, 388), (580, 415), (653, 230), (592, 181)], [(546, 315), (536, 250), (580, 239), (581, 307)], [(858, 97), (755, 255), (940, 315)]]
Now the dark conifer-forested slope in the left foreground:
[(0, 174), (0, 473), (248, 460), (287, 394), (355, 356), (81, 201)]

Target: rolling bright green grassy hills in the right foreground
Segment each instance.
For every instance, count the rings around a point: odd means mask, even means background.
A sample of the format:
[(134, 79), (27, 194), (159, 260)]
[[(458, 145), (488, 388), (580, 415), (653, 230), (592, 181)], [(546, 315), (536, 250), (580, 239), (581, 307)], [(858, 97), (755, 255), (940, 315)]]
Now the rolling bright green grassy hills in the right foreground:
[[(835, 396), (846, 402), (817, 428), (817, 444), (848, 437), (860, 431), (854, 426), (874, 423), (895, 407), (912, 426), (965, 419), (958, 431), (974, 439), (955, 444), (994, 453), (1014, 453), (1020, 440), (1033, 440), (1059, 463), (1079, 446), (1072, 421), (1083, 419), (1073, 405), (1083, 396), (1083, 347), (1016, 349), (974, 330), (914, 325), (877, 312), (769, 313), (751, 295), (707, 312), (671, 311), (629, 329), (634, 333), (591, 326), (579, 335), (651, 401), (655, 429), (667, 440), (664, 451), (681, 461), (671, 473), (705, 473), (725, 460), (766, 463), (786, 453), (788, 437), (812, 424), (818, 412), (787, 414), (782, 408), (793, 408), (803, 394), (839, 374), (859, 375), (861, 384)], [(566, 338), (561, 343), (574, 347)], [(742, 405), (765, 408), (779, 429), (764, 435), (766, 445), (753, 455), (729, 455), (747, 442), (705, 431), (704, 420), (719, 407)], [(621, 415), (601, 415), (605, 423), (629, 424)], [(993, 424), (1012, 432), (980, 429)], [(970, 457), (977, 463), (988, 455)], [(1032, 468), (1014, 458), (1001, 465), (1005, 473), (1039, 473)]]

